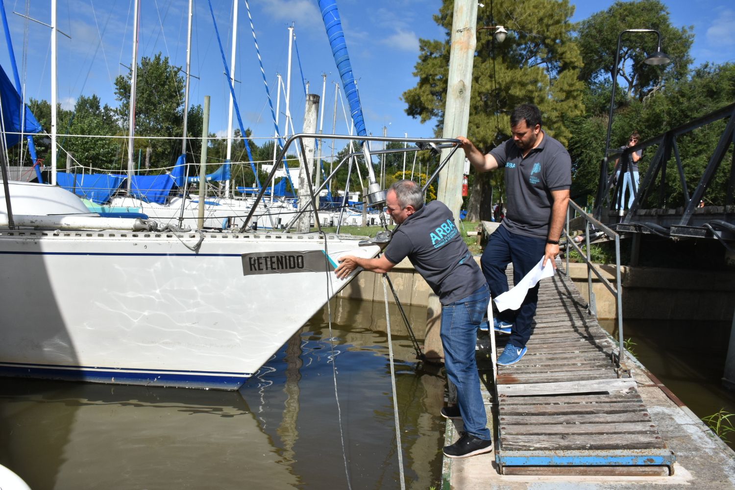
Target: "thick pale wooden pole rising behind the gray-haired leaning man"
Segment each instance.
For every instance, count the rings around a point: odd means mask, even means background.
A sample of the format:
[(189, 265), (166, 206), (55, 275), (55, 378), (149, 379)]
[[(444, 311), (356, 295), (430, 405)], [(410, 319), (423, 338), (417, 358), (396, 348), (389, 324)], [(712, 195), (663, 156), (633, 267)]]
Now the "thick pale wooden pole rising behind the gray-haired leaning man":
[[(472, 64), (475, 57), (477, 26), (477, 2), (455, 1), (452, 18), (451, 50), (449, 51), (449, 78), (447, 105), (444, 110), (442, 137), (453, 138), (467, 134), (470, 120), (470, 89), (472, 88)], [(442, 150), (442, 161), (449, 149)], [(465, 152), (456, 151), (451, 161), (439, 174), (437, 199), (451, 209), (454, 220), (459, 222), (462, 206), (462, 171), (465, 167)], [(440, 339), (442, 306), (435, 295), (429, 297), (426, 320), (426, 339), (423, 351), (427, 360), (441, 361), (444, 349)]]

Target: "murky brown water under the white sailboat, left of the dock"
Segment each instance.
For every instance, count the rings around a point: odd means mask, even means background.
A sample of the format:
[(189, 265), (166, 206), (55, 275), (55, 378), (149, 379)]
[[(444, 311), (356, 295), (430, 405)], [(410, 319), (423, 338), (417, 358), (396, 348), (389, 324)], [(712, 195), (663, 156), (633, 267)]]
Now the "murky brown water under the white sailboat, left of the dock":
[[(426, 309), (408, 314), (422, 325)], [(240, 392), (0, 378), (0, 463), (34, 490), (398, 488), (384, 305), (335, 300), (331, 317), (331, 333), (325, 307)], [(391, 322), (406, 479), (426, 489), (444, 379)]]

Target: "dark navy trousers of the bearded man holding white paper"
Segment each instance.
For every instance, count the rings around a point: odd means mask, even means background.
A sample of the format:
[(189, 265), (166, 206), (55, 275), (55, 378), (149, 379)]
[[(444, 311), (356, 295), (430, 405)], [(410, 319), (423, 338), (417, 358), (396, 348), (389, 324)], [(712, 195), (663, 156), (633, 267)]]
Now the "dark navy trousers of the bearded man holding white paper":
[[(480, 259), (482, 273), (485, 275), (492, 297), (497, 298), (509, 289), (505, 273), (509, 263), (513, 263), (513, 284), (518, 284), (524, 275), (536, 267), (545, 251), (545, 238), (525, 237), (511, 233), (505, 226), (499, 226), (490, 235), (487, 247)], [(506, 310), (498, 314), (498, 320), (514, 323), (508, 341), (510, 344), (516, 347), (526, 347), (526, 342), (531, 338), (531, 323), (536, 314), (538, 301), (539, 284), (528, 289), (526, 298), (519, 309)]]

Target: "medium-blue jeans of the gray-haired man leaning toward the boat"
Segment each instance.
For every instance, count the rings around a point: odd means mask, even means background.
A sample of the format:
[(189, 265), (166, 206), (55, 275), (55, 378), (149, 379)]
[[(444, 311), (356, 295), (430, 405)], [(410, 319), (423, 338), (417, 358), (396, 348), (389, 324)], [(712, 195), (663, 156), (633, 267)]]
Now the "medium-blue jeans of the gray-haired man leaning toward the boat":
[(466, 298), (442, 306), (441, 337), (447, 376), (457, 389), (465, 432), (479, 439), (490, 439), (475, 360), (477, 329), (488, 303), (490, 290), (483, 285)]

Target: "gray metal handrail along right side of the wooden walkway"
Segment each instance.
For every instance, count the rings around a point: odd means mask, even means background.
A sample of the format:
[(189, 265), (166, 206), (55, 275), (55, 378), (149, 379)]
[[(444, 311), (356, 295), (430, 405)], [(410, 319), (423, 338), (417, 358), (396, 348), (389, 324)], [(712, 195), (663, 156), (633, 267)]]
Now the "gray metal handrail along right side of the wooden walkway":
[[(575, 238), (570, 234), (570, 215), (574, 217), (582, 217), (584, 219), (584, 251)], [(603, 271), (600, 268), (600, 264), (592, 262), (592, 255), (589, 245), (593, 239), (606, 236), (609, 240), (615, 242), (615, 284), (611, 284), (610, 281), (603, 275)], [(623, 336), (623, 283), (620, 281), (620, 234), (616, 231), (608, 228), (607, 226), (600, 223), (599, 220), (589, 215), (584, 209), (578, 206), (577, 203), (570, 199), (569, 206), (567, 207), (567, 223), (564, 226), (564, 238), (566, 239), (566, 251), (564, 253), (564, 259), (566, 262), (565, 273), (567, 278), (570, 278), (569, 273), (569, 256), (572, 248), (577, 251), (579, 256), (585, 264), (587, 264), (587, 292), (589, 303), (587, 304), (587, 311), (589, 314), (594, 314), (597, 317), (597, 305), (595, 303), (595, 292), (592, 290), (592, 274), (595, 274), (599, 279), (600, 283), (608, 289), (609, 292), (615, 297), (615, 303), (617, 305), (617, 331), (618, 331), (618, 357), (615, 360), (617, 368), (620, 370), (620, 363), (625, 359), (625, 341)], [(624, 368), (623, 368), (624, 369)]]

